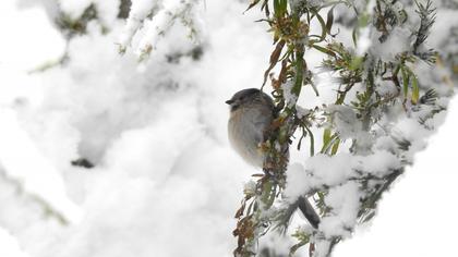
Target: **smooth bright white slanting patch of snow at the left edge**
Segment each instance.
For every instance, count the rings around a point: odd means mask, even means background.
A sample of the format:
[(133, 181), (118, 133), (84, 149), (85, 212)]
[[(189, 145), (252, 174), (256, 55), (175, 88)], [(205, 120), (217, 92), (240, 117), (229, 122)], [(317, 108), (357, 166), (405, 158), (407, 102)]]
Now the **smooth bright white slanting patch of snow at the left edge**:
[(45, 200), (63, 219), (79, 222), (81, 210), (68, 198), (62, 178), (20, 126), (15, 113), (0, 109), (0, 163), (7, 175), (20, 181), (27, 194)]

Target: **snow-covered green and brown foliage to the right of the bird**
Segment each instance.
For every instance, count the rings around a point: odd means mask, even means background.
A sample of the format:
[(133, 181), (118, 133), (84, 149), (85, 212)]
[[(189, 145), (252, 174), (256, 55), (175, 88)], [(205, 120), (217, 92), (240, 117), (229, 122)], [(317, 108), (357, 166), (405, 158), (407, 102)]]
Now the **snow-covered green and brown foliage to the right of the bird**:
[[(341, 2), (274, 0), (273, 7), (268, 2), (260, 4), (266, 15), (262, 21), (270, 26), (276, 47), (265, 74), (281, 111), (264, 146), (267, 157), (264, 175), (256, 181), (257, 194), (245, 194), (237, 212), (236, 255), (254, 255), (269, 228), (287, 230), (296, 209), (308, 217), (301, 201), (309, 197), (322, 220), (314, 230), (292, 234), (299, 242), (290, 254), (310, 243), (311, 255), (329, 256), (358, 223), (374, 217), (382, 194), (443, 120), (453, 87), (451, 74), (434, 65), (443, 57), (426, 40), (436, 8), (432, 1), (348, 1), (346, 20), (335, 28), (334, 9)], [(309, 34), (314, 19), (321, 29)], [(350, 42), (341, 37), (349, 34)], [(298, 105), (302, 87), (310, 85), (316, 96), (323, 90), (316, 88), (304, 56), (311, 50), (324, 53), (322, 66), (338, 79), (328, 83), (336, 91), (334, 99), (312, 106), (304, 115)], [(277, 63), (276, 76), (272, 71)], [(297, 130), (302, 131), (298, 148), (309, 137), (311, 157), (288, 172), (284, 149)], [(318, 154), (314, 134), (323, 135)]]

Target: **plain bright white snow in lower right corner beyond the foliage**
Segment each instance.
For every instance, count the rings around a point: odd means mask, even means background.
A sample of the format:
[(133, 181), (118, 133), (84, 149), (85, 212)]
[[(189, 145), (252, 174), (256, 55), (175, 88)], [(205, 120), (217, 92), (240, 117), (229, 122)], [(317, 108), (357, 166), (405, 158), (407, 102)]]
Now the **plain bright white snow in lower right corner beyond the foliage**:
[[(453, 99), (448, 118), (458, 114)], [(447, 119), (418, 154), (412, 167), (379, 203), (371, 228), (361, 227), (354, 237), (336, 247), (335, 256), (456, 256), (458, 230), (456, 151), (450, 145), (458, 130)]]

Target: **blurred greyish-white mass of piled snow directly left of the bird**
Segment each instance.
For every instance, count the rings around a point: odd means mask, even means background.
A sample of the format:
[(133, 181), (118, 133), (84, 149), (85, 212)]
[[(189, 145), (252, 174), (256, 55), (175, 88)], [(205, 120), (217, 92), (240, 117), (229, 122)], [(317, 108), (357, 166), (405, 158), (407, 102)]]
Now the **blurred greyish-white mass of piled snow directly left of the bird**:
[[(26, 197), (15, 193), (2, 197), (0, 225), (12, 232), (25, 253), (230, 256), (243, 183), (257, 171), (229, 147), (224, 101), (246, 85), (261, 85), (264, 68), (257, 60), (270, 49), (270, 41), (265, 27), (253, 25), (253, 15), (241, 15), (244, 4), (219, 2), (207, 8), (204, 19), (215, 21), (207, 27), (214, 36), (200, 62), (188, 57), (178, 64), (167, 62), (166, 54), (193, 47), (177, 29), (165, 38), (177, 44), (160, 45), (154, 59), (138, 68), (134, 54), (119, 56), (113, 44), (123, 24), (114, 24), (105, 36), (98, 24), (91, 23), (89, 35), (70, 42), (67, 65), (9, 76), (11, 83), (27, 77), (23, 79), (27, 86), (21, 91), (2, 88), (10, 94), (3, 108), (16, 117), (19, 132), (63, 179), (65, 195), (84, 212), (80, 222), (62, 227), (53, 218), (43, 219), (40, 207)], [(228, 22), (237, 15), (242, 22)], [(240, 32), (260, 40), (234, 38)], [(229, 48), (233, 51), (226, 51)], [(20, 49), (10, 50), (13, 60)], [(37, 59), (41, 63), (46, 58)], [(240, 69), (237, 76), (225, 72), (233, 66)], [(14, 103), (17, 99), (24, 103)], [(14, 124), (11, 119), (8, 123)], [(80, 157), (96, 168), (71, 167)], [(39, 188), (55, 189), (51, 183)], [(5, 183), (0, 195), (14, 192), (12, 186)]]

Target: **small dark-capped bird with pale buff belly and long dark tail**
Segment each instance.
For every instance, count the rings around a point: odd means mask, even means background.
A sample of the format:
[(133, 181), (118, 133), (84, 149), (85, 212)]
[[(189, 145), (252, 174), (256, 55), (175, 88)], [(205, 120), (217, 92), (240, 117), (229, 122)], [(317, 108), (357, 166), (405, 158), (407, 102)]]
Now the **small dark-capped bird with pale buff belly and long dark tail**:
[[(248, 88), (236, 93), (226, 103), (230, 106), (230, 144), (243, 160), (262, 169), (265, 156), (261, 144), (267, 139), (270, 124), (278, 114), (274, 100), (257, 88)], [(293, 207), (302, 211), (313, 228), (318, 227), (320, 216), (305, 197), (299, 197)]]

